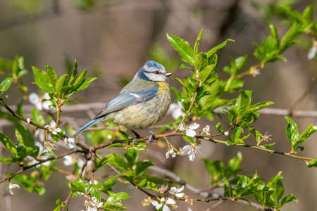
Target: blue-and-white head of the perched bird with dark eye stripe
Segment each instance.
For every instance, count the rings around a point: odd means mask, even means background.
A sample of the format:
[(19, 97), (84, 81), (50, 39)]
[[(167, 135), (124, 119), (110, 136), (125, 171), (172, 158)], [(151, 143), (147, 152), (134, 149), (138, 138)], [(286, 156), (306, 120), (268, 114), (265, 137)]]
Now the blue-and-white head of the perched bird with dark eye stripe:
[(163, 65), (153, 60), (147, 61), (142, 68), (139, 69), (135, 78), (145, 79), (151, 82), (167, 82), (171, 72), (166, 72)]

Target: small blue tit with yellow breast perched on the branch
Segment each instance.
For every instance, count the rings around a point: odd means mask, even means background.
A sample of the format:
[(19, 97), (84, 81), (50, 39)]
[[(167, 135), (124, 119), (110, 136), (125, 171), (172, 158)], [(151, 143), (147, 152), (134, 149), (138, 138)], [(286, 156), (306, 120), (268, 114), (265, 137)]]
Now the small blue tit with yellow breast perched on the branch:
[[(137, 138), (135, 129), (147, 130), (166, 114), (170, 107), (170, 88), (163, 65), (147, 61), (135, 77), (120, 91), (118, 96), (108, 102), (93, 120), (82, 126), (73, 137), (101, 120), (112, 120), (130, 129)], [(153, 136), (153, 132), (147, 130)]]

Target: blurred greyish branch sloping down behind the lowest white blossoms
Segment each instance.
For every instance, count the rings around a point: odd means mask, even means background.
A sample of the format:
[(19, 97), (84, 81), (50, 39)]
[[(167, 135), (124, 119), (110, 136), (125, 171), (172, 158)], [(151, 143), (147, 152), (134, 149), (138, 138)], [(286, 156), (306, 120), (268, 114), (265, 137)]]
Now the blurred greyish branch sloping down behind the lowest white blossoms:
[[(220, 194), (201, 191), (201, 190), (195, 188), (194, 186), (187, 184), (177, 174), (175, 174), (174, 172), (171, 172), (170, 170), (166, 170), (166, 169), (163, 169), (163, 168), (158, 167), (158, 166), (150, 166), (149, 170), (152, 170), (154, 172), (158, 172), (159, 174), (163, 174), (163, 176), (165, 176), (165, 177), (169, 177), (170, 179), (173, 179), (175, 182), (184, 185), (188, 191), (191, 191), (192, 193), (195, 193), (201, 197), (213, 198), (213, 200), (218, 199), (218, 200), (220, 200), (220, 202), (228, 200), (228, 199), (223, 198), (223, 196)], [(261, 205), (259, 205), (258, 203), (248, 203), (247, 201), (244, 201), (244, 200), (236, 200), (236, 201), (237, 201), (237, 203), (251, 205), (253, 207), (256, 207), (259, 210), (263, 210), (263, 207)]]

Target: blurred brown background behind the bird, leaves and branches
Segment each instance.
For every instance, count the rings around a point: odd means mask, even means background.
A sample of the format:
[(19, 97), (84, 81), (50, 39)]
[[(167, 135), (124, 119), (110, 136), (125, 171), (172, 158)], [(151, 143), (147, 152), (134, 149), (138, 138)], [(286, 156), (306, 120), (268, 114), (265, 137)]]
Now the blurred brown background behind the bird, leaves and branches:
[[(125, 82), (132, 79), (135, 72), (149, 59), (165, 60), (166, 68), (175, 72), (174, 76), (186, 77), (188, 70), (179, 70), (180, 60), (166, 39), (166, 33), (193, 44), (200, 29), (204, 29), (201, 49), (206, 51), (225, 39), (235, 39), (224, 49), (218, 51), (218, 70), (220, 77), (228, 77), (222, 68), (230, 63), (230, 59), (248, 55), (245, 68), (256, 64), (252, 56), (253, 43), (261, 43), (268, 36), (268, 21), (284, 34), (287, 25), (275, 13), (275, 7), (290, 4), (302, 11), (313, 4), (316, 18), (317, 1), (296, 0), (1, 0), (0, 1), (0, 57), (13, 59), (15, 56), (25, 58), (25, 68), (31, 65), (44, 69), (47, 63), (55, 68), (58, 75), (67, 72), (74, 59), (79, 69), (88, 69), (89, 76), (97, 76), (89, 89), (75, 95), (78, 103), (106, 103), (118, 94)], [(300, 37), (301, 43), (293, 46), (285, 53), (287, 63), (282, 61), (269, 63), (256, 78), (247, 77), (244, 89), (254, 90), (253, 102), (273, 101), (273, 108), (288, 109), (297, 98), (308, 89), (311, 79), (317, 73), (315, 60), (307, 59), (311, 46), (309, 37)], [(0, 76), (1, 77), (1, 76)], [(1, 78), (2, 79), (2, 78)], [(30, 92), (38, 91), (32, 74), (23, 78)], [(175, 80), (170, 84), (178, 87)], [(317, 85), (313, 84), (309, 94), (298, 104), (298, 110), (317, 109)], [(8, 92), (8, 103), (20, 102), (22, 94), (12, 88)], [(94, 110), (97, 113), (97, 110)], [(66, 115), (66, 114), (63, 114)], [(83, 124), (87, 113), (68, 113), (77, 124)], [(167, 115), (159, 124), (171, 120)], [(296, 118), (302, 132), (309, 124), (317, 124), (316, 118)], [(201, 120), (201, 125), (211, 124), (215, 128), (218, 117), (213, 122)], [(223, 122), (224, 128), (228, 124)], [(269, 132), (277, 142), (275, 148), (287, 151), (289, 143), (285, 136), (286, 121), (282, 116), (261, 115), (254, 124), (261, 132)], [(1, 128), (10, 129), (10, 126)], [(304, 143), (304, 153), (316, 158), (316, 134), (311, 141)], [(176, 146), (184, 146), (185, 141), (178, 137), (171, 139)], [(164, 149), (153, 146), (148, 153), (142, 153), (143, 159), (149, 159), (161, 167), (176, 172), (187, 183), (197, 188), (210, 186), (209, 174), (204, 168), (201, 158), (223, 160), (242, 152), (242, 174), (257, 172), (264, 179), (270, 179), (280, 170), (284, 176), (285, 193), (293, 193), (299, 203), (289, 203), (282, 210), (316, 210), (317, 201), (317, 169), (309, 169), (301, 160), (271, 155), (249, 148), (218, 146), (213, 143), (202, 143), (202, 152), (195, 162), (187, 158), (166, 160)], [(104, 154), (109, 153), (104, 151)], [(1, 166), (2, 167), (2, 166)], [(66, 167), (65, 167), (66, 168)], [(11, 170), (17, 170), (11, 166)], [(113, 174), (111, 170), (101, 170), (99, 175)], [(1, 176), (2, 177), (2, 176)], [(1, 184), (5, 186), (6, 184)], [(0, 210), (53, 210), (55, 201), (65, 199), (68, 195), (67, 179), (61, 174), (53, 174), (45, 184), (46, 194), (38, 196), (23, 189), (15, 191), (11, 202), (0, 198)], [(127, 186), (117, 184), (116, 191), (127, 191)], [(129, 210), (155, 210), (154, 207), (142, 207), (141, 200), (147, 198), (142, 192), (133, 188), (128, 190), (132, 198), (125, 200)], [(195, 198), (193, 193), (186, 192)], [(196, 196), (197, 197), (197, 196)], [(83, 210), (84, 198), (70, 201), (70, 210)], [(187, 210), (186, 203), (178, 203), (178, 210)], [(213, 203), (194, 203), (192, 210), (207, 210)], [(226, 202), (216, 210), (254, 210), (247, 205)]]

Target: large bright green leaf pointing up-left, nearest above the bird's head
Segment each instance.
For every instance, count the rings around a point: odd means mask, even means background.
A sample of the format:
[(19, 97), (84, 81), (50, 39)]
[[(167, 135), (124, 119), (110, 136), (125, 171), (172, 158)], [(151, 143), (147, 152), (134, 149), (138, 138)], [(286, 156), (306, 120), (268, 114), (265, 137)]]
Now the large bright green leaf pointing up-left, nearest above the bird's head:
[(173, 34), (166, 34), (166, 37), (170, 44), (173, 46), (175, 51), (180, 53), (180, 58), (189, 63), (189, 65), (194, 65), (194, 50), (189, 45), (187, 41), (181, 39), (180, 37), (176, 37)]

